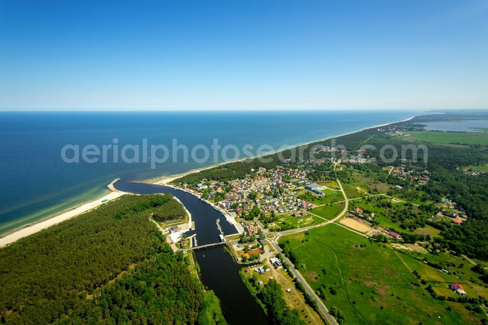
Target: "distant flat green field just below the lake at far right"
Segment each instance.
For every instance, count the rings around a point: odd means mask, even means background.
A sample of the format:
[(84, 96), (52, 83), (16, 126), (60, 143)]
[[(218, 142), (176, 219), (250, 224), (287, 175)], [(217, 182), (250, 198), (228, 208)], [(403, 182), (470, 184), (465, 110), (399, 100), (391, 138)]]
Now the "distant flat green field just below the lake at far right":
[(482, 132), (421, 131), (412, 132), (409, 137), (423, 142), (488, 145), (488, 133)]

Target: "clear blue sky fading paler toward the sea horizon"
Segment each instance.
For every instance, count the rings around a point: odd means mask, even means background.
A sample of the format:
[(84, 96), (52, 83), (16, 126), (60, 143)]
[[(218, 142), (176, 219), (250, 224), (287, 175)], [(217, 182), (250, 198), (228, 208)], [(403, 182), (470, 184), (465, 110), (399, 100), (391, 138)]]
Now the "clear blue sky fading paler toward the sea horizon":
[(0, 0), (0, 110), (488, 108), (488, 0)]

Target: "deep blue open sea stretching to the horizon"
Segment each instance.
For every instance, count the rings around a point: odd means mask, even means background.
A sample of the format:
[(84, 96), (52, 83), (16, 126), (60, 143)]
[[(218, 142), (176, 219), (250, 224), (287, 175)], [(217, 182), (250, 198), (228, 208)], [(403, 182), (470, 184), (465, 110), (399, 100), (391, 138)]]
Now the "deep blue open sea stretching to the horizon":
[[(224, 147), (244, 145), (254, 148), (267, 144), (277, 150), (320, 140), (368, 126), (407, 119), (422, 114), (412, 111), (293, 111), (293, 112), (2, 112), (0, 113), (0, 234), (28, 223), (49, 218), (81, 203), (106, 194), (106, 184), (115, 178), (144, 180), (183, 173), (214, 164), (213, 151), (205, 163), (191, 159), (191, 148), (203, 144), (210, 149), (214, 139)], [(117, 139), (114, 141), (114, 139)], [(148, 159), (142, 153), (148, 143)], [(186, 145), (190, 152), (184, 162), (183, 150), (173, 162), (172, 143)], [(83, 162), (82, 148), (118, 142), (119, 162), (107, 151), (97, 163)], [(61, 159), (63, 146), (79, 145), (80, 163)], [(121, 148), (139, 145), (140, 163), (122, 162)], [(163, 144), (169, 149), (165, 163), (151, 168), (150, 146)], [(113, 149), (113, 147), (112, 147)], [(159, 157), (163, 151), (158, 152)], [(68, 150), (67, 156), (73, 157)], [(128, 150), (128, 158), (133, 151)], [(197, 158), (204, 156), (197, 151)], [(234, 150), (227, 156), (234, 157)], [(241, 152), (241, 158), (244, 154)], [(147, 162), (143, 163), (143, 160)], [(217, 156), (222, 161), (221, 155)]]

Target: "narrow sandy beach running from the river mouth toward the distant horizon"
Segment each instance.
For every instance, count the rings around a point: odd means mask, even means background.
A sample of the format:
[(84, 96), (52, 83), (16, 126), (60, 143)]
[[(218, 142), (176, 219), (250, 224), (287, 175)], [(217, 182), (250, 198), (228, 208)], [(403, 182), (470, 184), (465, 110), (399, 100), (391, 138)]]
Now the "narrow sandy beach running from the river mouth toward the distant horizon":
[(285, 151), (285, 150), (289, 150), (289, 149), (292, 149), (292, 148), (296, 148), (296, 147), (299, 147), (299, 146), (302, 146), (302, 145), (308, 145), (310, 143), (321, 142), (321, 141), (326, 141), (326, 140), (330, 140), (330, 139), (334, 139), (334, 138), (338, 138), (338, 137), (343, 137), (343, 136), (346, 136), (346, 135), (349, 135), (349, 134), (354, 134), (354, 133), (357, 133), (357, 132), (362, 132), (362, 131), (365, 131), (365, 130), (368, 130), (368, 129), (373, 129), (373, 128), (376, 128), (376, 127), (382, 127), (382, 126), (386, 126), (386, 125), (390, 125), (390, 124), (407, 122), (407, 121), (412, 120), (415, 117), (417, 117), (417, 115), (412, 116), (412, 117), (409, 117), (409, 118), (407, 118), (405, 120), (402, 120), (402, 121), (389, 122), (389, 123), (385, 123), (385, 124), (378, 124), (378, 125), (368, 126), (368, 127), (362, 128), (360, 130), (346, 132), (346, 133), (341, 133), (341, 134), (333, 135), (333, 136), (330, 136), (330, 137), (327, 137), (327, 138), (323, 138), (323, 139), (313, 140), (313, 141), (309, 141), (309, 142), (302, 142), (302, 143), (298, 143), (298, 144), (292, 144), (292, 145), (287, 146), (286, 148), (278, 149), (278, 150), (274, 150), (274, 151), (270, 151), (270, 152), (266, 152), (265, 154), (262, 154), (262, 155), (256, 155), (256, 156), (253, 156), (253, 157), (246, 157), (246, 158), (231, 160), (231, 161), (228, 161), (228, 162), (216, 163), (216, 164), (213, 164), (213, 165), (210, 165), (210, 166), (207, 166), (207, 167), (192, 169), (192, 170), (189, 170), (187, 172), (180, 173), (180, 174), (173, 174), (173, 175), (161, 176), (161, 177), (151, 178), (151, 179), (142, 180), (142, 181), (135, 181), (135, 183), (151, 183), (151, 184), (157, 184), (157, 185), (167, 185), (168, 183), (170, 183), (170, 182), (172, 182), (174, 180), (177, 180), (179, 178), (182, 178), (182, 177), (184, 177), (186, 175), (190, 175), (190, 174), (198, 173), (198, 172), (201, 172), (201, 171), (204, 171), (204, 170), (207, 170), (207, 169), (212, 169), (212, 168), (215, 168), (215, 167), (219, 167), (219, 166), (222, 166), (222, 165), (227, 164), (227, 163), (239, 163), (239, 162), (244, 162), (245, 160), (248, 160), (248, 159), (256, 159), (256, 158), (264, 157), (264, 156), (267, 156), (267, 155), (274, 155), (274, 154), (276, 154), (278, 152), (282, 152), (282, 151)]

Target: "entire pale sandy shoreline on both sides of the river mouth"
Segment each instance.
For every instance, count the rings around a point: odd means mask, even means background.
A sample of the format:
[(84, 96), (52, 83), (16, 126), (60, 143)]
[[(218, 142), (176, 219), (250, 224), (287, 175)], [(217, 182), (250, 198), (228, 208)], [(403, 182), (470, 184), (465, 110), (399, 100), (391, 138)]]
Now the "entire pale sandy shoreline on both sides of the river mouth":
[[(282, 151), (285, 151), (285, 150), (289, 150), (291, 148), (296, 148), (296, 147), (299, 147), (299, 146), (302, 146), (302, 145), (307, 145), (307, 144), (310, 144), (310, 143), (315, 143), (315, 142), (321, 142), (321, 141), (326, 141), (326, 140), (330, 140), (330, 139), (333, 139), (333, 138), (337, 138), (337, 137), (342, 137), (342, 136), (345, 136), (345, 135), (349, 135), (349, 134), (354, 134), (354, 133), (357, 133), (357, 132), (362, 132), (364, 130), (368, 130), (368, 129), (372, 129), (372, 128), (377, 128), (377, 127), (381, 127), (381, 126), (386, 126), (386, 125), (390, 125), (390, 124), (395, 124), (395, 123), (401, 123), (401, 122), (407, 122), (407, 121), (410, 121), (412, 120), (413, 118), (415, 118), (416, 116), (412, 116), (412, 117), (409, 117), (405, 120), (401, 120), (401, 121), (396, 121), (396, 122), (388, 122), (388, 123), (384, 123), (384, 124), (378, 124), (378, 125), (373, 125), (373, 126), (368, 126), (368, 127), (364, 127), (362, 129), (359, 129), (359, 130), (355, 130), (355, 131), (351, 131), (351, 132), (346, 132), (346, 133), (342, 133), (342, 134), (339, 134), (339, 135), (333, 135), (333, 136), (329, 136), (327, 138), (323, 138), (323, 139), (318, 139), (318, 140), (313, 140), (313, 141), (309, 141), (309, 142), (302, 142), (302, 143), (298, 143), (298, 144), (293, 144), (293, 145), (289, 145), (287, 146), (286, 148), (282, 148), (282, 149), (278, 149), (278, 150), (274, 150), (274, 151), (270, 151), (270, 152), (266, 152), (262, 155), (256, 155), (256, 156), (253, 156), (253, 157), (246, 157), (246, 158), (243, 158), (243, 159), (236, 159), (236, 160), (232, 160), (232, 161), (228, 161), (228, 162), (221, 162), (221, 163), (217, 163), (217, 164), (213, 164), (213, 165), (210, 165), (210, 166), (207, 166), (207, 167), (203, 167), (203, 168), (197, 168), (197, 169), (193, 169), (193, 170), (189, 170), (187, 172), (184, 172), (184, 173), (180, 173), (180, 174), (173, 174), (173, 175), (167, 175), (167, 176), (162, 176), (162, 177), (158, 177), (158, 178), (152, 178), (152, 179), (148, 179), (148, 180), (142, 180), (142, 181), (137, 181), (137, 183), (151, 183), (151, 184), (157, 184), (157, 185), (165, 185), (165, 186), (169, 186), (169, 187), (173, 187), (173, 188), (176, 188), (176, 189), (179, 189), (179, 190), (183, 190), (181, 188), (177, 188), (176, 186), (174, 185), (170, 185), (168, 183), (178, 179), (178, 178), (181, 178), (185, 175), (189, 175), (189, 174), (193, 174), (193, 173), (197, 173), (197, 172), (200, 172), (200, 171), (203, 171), (203, 170), (207, 170), (207, 169), (211, 169), (211, 168), (215, 168), (215, 167), (218, 167), (218, 166), (221, 166), (221, 165), (224, 165), (226, 163), (237, 163), (237, 162), (243, 162), (245, 160), (248, 160), (248, 159), (255, 159), (255, 158), (260, 158), (260, 157), (263, 157), (263, 156), (267, 156), (267, 155), (273, 155), (273, 154), (276, 154), (278, 152), (282, 152)], [(91, 209), (94, 209), (96, 207), (98, 207), (99, 205), (102, 204), (102, 201), (103, 200), (114, 200), (124, 194), (130, 194), (130, 193), (125, 193), (125, 192), (122, 192), (122, 191), (119, 191), (117, 190), (113, 184), (117, 181), (119, 181), (120, 178), (117, 178), (115, 179), (114, 181), (112, 181), (111, 183), (107, 184), (107, 189), (109, 189), (111, 192), (94, 200), (94, 201), (89, 201), (89, 202), (86, 202), (86, 203), (82, 203), (81, 205), (79, 206), (75, 206), (73, 208), (70, 208), (68, 211), (66, 212), (61, 212), (61, 213), (58, 213), (58, 214), (53, 214), (52, 216), (48, 217), (48, 219), (44, 219), (40, 222), (34, 222), (34, 223), (28, 223), (28, 224), (25, 224), (23, 226), (21, 226), (20, 228), (17, 228), (17, 229), (14, 229), (13, 231), (11, 232), (8, 232), (6, 234), (3, 234), (2, 237), (0, 237), (0, 248), (1, 247), (4, 247), (8, 244), (12, 244), (14, 242), (16, 242), (17, 240), (21, 239), (21, 238), (24, 238), (24, 237), (27, 237), (29, 235), (32, 235), (36, 232), (39, 232), (43, 229), (46, 229), (54, 224), (57, 224), (57, 223), (61, 223), (65, 220), (68, 220), (68, 219), (71, 219), (73, 217), (76, 217), (78, 215), (80, 215), (81, 213), (84, 213), (84, 212), (87, 212)], [(193, 195), (196, 195), (195, 193), (192, 193), (192, 192), (189, 192)], [(196, 195), (197, 197), (199, 197), (198, 195)], [(183, 205), (184, 206), (184, 205)], [(222, 211), (221, 211), (222, 212)], [(225, 214), (224, 214), (225, 216)]]

